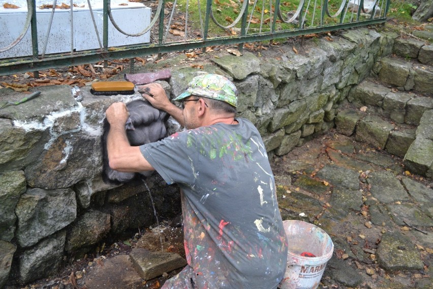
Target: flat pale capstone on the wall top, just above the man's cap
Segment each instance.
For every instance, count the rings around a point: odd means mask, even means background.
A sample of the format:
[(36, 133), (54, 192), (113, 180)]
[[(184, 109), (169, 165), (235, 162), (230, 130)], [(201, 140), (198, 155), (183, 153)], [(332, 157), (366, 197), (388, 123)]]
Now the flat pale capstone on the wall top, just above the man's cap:
[(251, 52), (243, 52), (242, 56), (227, 54), (219, 58), (212, 57), (212, 61), (238, 80), (260, 72), (260, 60)]

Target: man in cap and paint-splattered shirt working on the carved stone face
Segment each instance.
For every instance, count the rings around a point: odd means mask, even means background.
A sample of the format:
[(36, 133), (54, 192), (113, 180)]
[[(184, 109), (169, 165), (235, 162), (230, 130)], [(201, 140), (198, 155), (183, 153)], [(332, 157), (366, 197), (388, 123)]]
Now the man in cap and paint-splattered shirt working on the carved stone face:
[(221, 75), (197, 76), (174, 99), (182, 109), (159, 84), (141, 90), (187, 129), (131, 147), (125, 104), (106, 111), (110, 167), (157, 170), (181, 189), (188, 266), (163, 288), (276, 288), (286, 269), (286, 235), (261, 136), (251, 122), (235, 118), (235, 85)]

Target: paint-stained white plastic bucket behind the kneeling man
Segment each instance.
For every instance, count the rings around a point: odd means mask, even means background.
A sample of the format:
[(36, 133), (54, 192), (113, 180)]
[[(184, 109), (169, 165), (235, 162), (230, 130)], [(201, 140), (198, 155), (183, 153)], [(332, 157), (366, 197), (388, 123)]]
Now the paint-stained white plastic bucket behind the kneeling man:
[[(289, 243), (287, 268), (281, 289), (316, 289), (326, 263), (332, 257), (334, 244), (324, 230), (313, 224), (297, 221), (283, 221)], [(315, 257), (301, 256), (309, 252)]]

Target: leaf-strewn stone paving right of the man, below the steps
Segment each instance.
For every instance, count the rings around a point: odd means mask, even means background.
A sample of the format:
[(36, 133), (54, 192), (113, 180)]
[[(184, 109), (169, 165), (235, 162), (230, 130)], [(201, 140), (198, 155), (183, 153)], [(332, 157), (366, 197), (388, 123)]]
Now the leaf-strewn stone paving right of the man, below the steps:
[(431, 288), (433, 182), (402, 163), (332, 130), (274, 158), (283, 219), (334, 243), (319, 288)]

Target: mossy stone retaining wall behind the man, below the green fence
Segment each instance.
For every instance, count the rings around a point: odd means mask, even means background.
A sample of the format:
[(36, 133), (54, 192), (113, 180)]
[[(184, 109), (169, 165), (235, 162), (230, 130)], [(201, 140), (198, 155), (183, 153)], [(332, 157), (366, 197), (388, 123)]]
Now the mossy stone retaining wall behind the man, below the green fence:
[[(334, 127), (352, 86), (369, 76), (396, 35), (361, 28), (318, 39), (297, 53), (208, 53), (203, 69), (169, 59), (161, 81), (172, 98), (203, 72), (226, 75), (239, 89), (238, 114), (252, 121), (270, 157)], [(183, 56), (184, 57), (184, 56)], [(147, 68), (148, 69), (148, 68)], [(148, 71), (148, 70), (147, 70)], [(54, 273), (63, 256), (78, 255), (109, 236), (153, 224), (149, 188), (159, 216), (180, 213), (176, 186), (154, 174), (123, 186), (102, 181), (101, 134), (106, 108), (133, 96), (93, 96), (83, 88), (76, 102), (69, 86), (45, 86), (42, 94), (0, 110), (0, 287), (7, 279), (28, 283)], [(2, 98), (16, 93), (2, 90)], [(176, 129), (172, 123), (171, 132)], [(9, 277), (8, 277), (9, 276)]]

